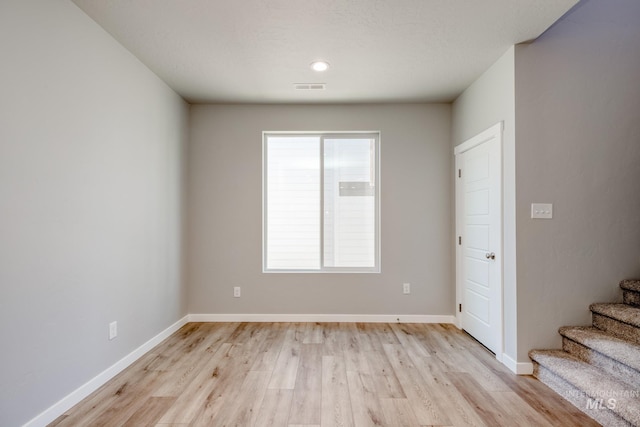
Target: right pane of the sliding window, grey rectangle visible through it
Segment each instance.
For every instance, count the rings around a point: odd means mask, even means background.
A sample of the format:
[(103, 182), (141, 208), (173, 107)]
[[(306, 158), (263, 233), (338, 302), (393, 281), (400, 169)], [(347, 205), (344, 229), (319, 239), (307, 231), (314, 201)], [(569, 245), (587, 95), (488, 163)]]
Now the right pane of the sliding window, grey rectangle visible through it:
[(375, 267), (375, 140), (324, 139), (324, 266)]

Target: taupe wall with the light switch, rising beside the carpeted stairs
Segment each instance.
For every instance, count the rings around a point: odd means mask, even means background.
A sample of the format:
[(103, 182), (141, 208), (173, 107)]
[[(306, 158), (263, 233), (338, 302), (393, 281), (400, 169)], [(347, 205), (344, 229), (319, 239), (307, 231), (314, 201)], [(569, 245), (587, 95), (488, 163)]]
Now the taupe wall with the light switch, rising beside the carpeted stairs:
[(516, 49), (520, 360), (640, 276), (638, 23), (637, 0), (589, 0)]

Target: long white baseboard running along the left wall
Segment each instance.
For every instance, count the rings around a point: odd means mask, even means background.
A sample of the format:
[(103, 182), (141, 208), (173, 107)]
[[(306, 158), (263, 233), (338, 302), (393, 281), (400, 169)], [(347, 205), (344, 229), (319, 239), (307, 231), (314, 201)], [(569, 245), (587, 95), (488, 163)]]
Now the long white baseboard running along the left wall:
[(163, 340), (168, 338), (171, 334), (183, 327), (189, 322), (189, 316), (184, 316), (182, 319), (169, 326), (164, 331), (160, 332), (149, 341), (142, 344), (140, 347), (127, 354), (125, 357), (105, 369), (94, 378), (81, 385), (67, 396), (63, 397), (60, 401), (55, 403), (49, 409), (46, 409), (40, 415), (36, 416), (23, 427), (45, 427), (60, 415), (64, 414), (67, 410), (74, 405), (80, 403), (82, 399), (89, 396), (91, 393), (102, 387), (107, 381), (118, 375), (133, 362), (141, 358), (145, 353), (149, 352), (152, 348), (160, 344)]

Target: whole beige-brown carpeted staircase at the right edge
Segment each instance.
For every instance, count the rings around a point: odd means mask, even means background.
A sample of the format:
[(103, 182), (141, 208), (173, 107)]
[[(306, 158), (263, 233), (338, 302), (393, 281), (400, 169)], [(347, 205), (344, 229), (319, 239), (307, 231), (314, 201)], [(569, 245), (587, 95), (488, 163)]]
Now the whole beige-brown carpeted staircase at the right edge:
[(591, 304), (593, 326), (560, 328), (562, 350), (532, 350), (533, 375), (604, 426), (640, 427), (640, 280), (623, 304)]

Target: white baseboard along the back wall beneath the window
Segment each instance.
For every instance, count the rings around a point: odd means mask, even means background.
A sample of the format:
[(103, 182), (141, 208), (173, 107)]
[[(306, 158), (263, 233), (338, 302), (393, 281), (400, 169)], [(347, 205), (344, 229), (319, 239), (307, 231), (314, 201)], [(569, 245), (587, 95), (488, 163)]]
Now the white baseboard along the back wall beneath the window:
[(420, 314), (190, 314), (190, 322), (450, 323), (452, 315)]

